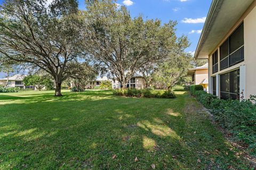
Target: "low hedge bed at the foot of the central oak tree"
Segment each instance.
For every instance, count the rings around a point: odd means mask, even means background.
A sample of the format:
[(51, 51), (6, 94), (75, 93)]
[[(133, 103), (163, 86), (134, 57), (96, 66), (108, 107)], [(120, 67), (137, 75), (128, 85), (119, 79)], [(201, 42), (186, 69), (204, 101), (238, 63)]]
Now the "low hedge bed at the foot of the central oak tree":
[(138, 97), (138, 98), (175, 98), (176, 96), (170, 90), (137, 90), (137, 89), (125, 89), (115, 90), (116, 96)]

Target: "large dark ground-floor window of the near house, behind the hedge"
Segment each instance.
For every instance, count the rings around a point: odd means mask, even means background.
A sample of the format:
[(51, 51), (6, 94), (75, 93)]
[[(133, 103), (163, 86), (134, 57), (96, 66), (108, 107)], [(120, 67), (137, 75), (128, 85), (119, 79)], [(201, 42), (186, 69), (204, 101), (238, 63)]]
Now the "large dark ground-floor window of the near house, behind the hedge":
[(239, 69), (220, 75), (220, 98), (239, 99)]

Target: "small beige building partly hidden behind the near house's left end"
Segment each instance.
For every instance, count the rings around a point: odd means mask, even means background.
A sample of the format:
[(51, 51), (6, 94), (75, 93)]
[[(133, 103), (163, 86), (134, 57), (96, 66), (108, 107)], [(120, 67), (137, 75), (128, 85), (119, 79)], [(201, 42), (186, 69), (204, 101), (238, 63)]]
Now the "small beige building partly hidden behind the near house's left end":
[(209, 91), (208, 88), (208, 63), (188, 69), (188, 75), (192, 77), (192, 84), (201, 84), (205, 91)]

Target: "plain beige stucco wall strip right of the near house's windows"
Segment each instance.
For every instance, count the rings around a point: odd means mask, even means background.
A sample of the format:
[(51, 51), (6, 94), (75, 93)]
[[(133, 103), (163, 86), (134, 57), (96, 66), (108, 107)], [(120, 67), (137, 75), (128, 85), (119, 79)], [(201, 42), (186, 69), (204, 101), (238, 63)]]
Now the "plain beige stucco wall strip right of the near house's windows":
[(244, 19), (245, 97), (256, 95), (256, 7)]

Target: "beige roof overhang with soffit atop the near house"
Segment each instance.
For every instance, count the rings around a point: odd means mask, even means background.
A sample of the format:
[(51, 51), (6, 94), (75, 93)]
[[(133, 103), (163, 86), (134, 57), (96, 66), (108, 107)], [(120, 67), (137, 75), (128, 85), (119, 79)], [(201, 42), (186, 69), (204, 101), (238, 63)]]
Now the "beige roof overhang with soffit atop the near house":
[(195, 59), (207, 59), (255, 0), (213, 0), (199, 38)]

